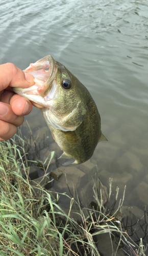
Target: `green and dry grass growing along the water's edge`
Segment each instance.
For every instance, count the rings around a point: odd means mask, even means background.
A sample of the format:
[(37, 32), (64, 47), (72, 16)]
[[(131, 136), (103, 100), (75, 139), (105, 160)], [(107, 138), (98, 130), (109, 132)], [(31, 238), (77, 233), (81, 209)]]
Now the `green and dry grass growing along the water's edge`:
[[(71, 198), (69, 213), (66, 215), (58, 204), (60, 193), (55, 198), (37, 184), (42, 193), (40, 197), (36, 196), (34, 192), (36, 186), (31, 185), (28, 176), (29, 165), (35, 161), (29, 159), (26, 148), (28, 148), (26, 142), (18, 135), (9, 141), (0, 142), (0, 251), (2, 256), (100, 256), (95, 238), (102, 233), (108, 233), (110, 236), (112, 255), (116, 255), (121, 247), (127, 255), (146, 255), (142, 239), (137, 246), (130, 239), (127, 231), (122, 231), (121, 221), (116, 218), (124, 201), (123, 196), (118, 207), (114, 209), (118, 188), (114, 204), (107, 212), (103, 205), (101, 190), (98, 189), (100, 181), (96, 178), (93, 186), (94, 198), (97, 202), (96, 209), (86, 209), (88, 212), (86, 217), (79, 197), (77, 201)], [(52, 157), (53, 153), (50, 160)], [(41, 163), (43, 167), (45, 162)], [(26, 174), (25, 178), (22, 176), (22, 171)], [(108, 203), (111, 196), (111, 183), (110, 181)], [(65, 200), (66, 198), (65, 195)], [(80, 208), (80, 223), (70, 217), (73, 203)], [(115, 240), (116, 247), (112, 242)]]

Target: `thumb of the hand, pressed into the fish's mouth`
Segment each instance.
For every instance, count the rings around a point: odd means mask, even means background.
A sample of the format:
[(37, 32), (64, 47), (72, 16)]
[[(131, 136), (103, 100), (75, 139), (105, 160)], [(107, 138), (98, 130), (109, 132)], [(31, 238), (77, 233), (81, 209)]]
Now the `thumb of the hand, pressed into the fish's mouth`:
[(34, 76), (29, 73), (24, 73), (17, 68), (13, 63), (0, 65), (0, 91), (10, 87), (28, 88), (33, 86)]

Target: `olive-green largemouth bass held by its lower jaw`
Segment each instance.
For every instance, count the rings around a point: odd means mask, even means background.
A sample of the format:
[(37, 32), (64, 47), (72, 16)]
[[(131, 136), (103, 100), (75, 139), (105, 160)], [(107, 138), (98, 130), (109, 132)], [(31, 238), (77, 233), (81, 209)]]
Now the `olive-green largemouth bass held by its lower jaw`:
[(43, 106), (40, 111), (63, 151), (59, 158), (72, 159), (63, 165), (89, 160), (97, 143), (107, 139), (102, 134), (101, 117), (87, 88), (51, 55), (31, 63), (23, 71), (35, 77), (35, 84), (13, 90)]

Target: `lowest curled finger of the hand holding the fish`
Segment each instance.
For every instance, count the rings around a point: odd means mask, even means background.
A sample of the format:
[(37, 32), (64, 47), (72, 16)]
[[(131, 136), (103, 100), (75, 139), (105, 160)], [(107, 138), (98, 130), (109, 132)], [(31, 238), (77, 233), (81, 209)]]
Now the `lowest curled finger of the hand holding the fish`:
[(17, 128), (14, 124), (0, 120), (0, 141), (9, 140), (16, 133)]

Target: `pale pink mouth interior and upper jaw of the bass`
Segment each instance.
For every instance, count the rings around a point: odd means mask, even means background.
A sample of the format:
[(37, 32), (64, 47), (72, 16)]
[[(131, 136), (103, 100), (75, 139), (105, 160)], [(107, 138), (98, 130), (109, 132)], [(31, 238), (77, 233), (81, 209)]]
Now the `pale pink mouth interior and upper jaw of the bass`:
[[(23, 70), (23, 72), (30, 73), (35, 77), (34, 86), (37, 86), (36, 94), (44, 97), (52, 88), (53, 80), (57, 73), (56, 61), (51, 55), (47, 55), (35, 63), (31, 63), (27, 69)], [(28, 89), (31, 88), (32, 87)], [(26, 90), (26, 92), (27, 91), (29, 90)], [(24, 89), (23, 92), (25, 92)]]

